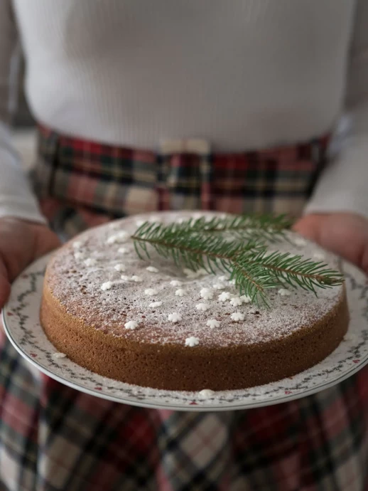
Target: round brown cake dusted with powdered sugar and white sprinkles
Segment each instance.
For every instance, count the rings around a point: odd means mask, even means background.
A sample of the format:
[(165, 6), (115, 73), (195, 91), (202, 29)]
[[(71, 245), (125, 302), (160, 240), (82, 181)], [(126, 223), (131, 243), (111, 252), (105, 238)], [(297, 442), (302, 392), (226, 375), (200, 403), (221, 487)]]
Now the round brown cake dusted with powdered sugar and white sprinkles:
[[(269, 308), (239, 295), (229, 275), (194, 273), (152, 253), (131, 234), (158, 213), (92, 228), (63, 245), (46, 269), (40, 320), (58, 352), (102, 376), (178, 391), (245, 389), (298, 374), (341, 342), (349, 322), (344, 285), (269, 290)], [(330, 255), (288, 232), (271, 249), (337, 268)]]

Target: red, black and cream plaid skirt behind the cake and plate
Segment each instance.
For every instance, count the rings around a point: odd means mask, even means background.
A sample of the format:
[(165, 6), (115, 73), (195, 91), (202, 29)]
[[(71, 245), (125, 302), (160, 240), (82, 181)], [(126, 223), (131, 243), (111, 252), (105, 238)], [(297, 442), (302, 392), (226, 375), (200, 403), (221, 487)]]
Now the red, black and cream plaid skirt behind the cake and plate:
[[(326, 143), (224, 155), (205, 142), (170, 142), (153, 153), (41, 129), (33, 180), (65, 239), (143, 211), (298, 215)], [(3, 335), (0, 491), (368, 490), (366, 374), (248, 411), (136, 408), (40, 375)]]

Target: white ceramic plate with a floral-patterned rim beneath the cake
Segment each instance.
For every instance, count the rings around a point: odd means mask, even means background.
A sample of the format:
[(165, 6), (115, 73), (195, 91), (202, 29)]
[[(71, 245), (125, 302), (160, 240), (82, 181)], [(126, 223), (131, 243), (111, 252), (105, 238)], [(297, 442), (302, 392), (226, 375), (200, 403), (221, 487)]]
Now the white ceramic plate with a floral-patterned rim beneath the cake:
[(345, 263), (351, 316), (349, 331), (335, 352), (301, 374), (251, 389), (215, 392), (207, 398), (200, 393), (158, 391), (107, 379), (70, 359), (56, 358), (56, 349), (40, 327), (40, 299), (48, 258), (33, 263), (13, 284), (2, 313), (4, 329), (22, 357), (44, 374), (86, 394), (133, 406), (178, 411), (249, 409), (322, 391), (352, 376), (368, 362), (368, 283), (362, 273)]

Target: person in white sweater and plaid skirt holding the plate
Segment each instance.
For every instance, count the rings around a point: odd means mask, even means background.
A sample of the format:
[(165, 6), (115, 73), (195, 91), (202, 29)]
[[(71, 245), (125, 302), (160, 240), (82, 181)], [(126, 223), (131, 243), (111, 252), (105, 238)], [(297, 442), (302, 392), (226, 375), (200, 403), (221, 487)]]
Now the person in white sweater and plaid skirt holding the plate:
[[(38, 201), (6, 126), (17, 38)], [(367, 0), (2, 0), (0, 304), (60, 241), (141, 211), (291, 213), (367, 272), (367, 102)], [(1, 490), (368, 489), (367, 369), (276, 406), (163, 411), (63, 386), (1, 334), (0, 415)]]

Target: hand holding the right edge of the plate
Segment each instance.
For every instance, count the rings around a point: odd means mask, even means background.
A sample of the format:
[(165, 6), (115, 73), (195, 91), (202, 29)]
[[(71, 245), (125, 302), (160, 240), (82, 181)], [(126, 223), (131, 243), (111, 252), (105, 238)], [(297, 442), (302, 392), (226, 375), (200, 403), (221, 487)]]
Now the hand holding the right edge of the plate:
[(301, 218), (293, 228), (368, 274), (367, 218), (356, 213), (313, 213)]

